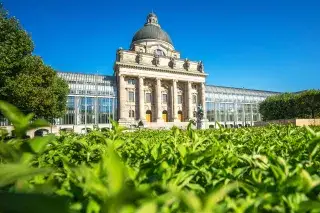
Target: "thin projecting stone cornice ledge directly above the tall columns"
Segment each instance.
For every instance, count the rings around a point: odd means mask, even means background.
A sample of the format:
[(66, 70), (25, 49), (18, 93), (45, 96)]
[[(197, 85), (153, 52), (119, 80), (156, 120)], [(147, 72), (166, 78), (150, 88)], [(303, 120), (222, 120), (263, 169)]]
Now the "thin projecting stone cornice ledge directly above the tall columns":
[(134, 63), (122, 63), (122, 62), (116, 62), (116, 66), (119, 67), (127, 67), (127, 68), (136, 68), (141, 70), (153, 70), (158, 72), (166, 72), (166, 73), (176, 73), (176, 74), (182, 74), (182, 75), (192, 75), (192, 76), (201, 76), (201, 77), (207, 77), (208, 74), (206, 73), (200, 73), (200, 72), (194, 72), (194, 71), (186, 71), (183, 69), (168, 69), (161, 66), (144, 66), (141, 64), (134, 64)]

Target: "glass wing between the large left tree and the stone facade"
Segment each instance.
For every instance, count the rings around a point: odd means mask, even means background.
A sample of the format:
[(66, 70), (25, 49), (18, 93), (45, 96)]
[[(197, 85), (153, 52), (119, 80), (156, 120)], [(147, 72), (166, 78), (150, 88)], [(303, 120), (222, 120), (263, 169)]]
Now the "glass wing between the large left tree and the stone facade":
[[(113, 76), (58, 73), (70, 88), (67, 112), (58, 125), (108, 124), (117, 120), (117, 91)], [(132, 83), (135, 83), (132, 81)]]

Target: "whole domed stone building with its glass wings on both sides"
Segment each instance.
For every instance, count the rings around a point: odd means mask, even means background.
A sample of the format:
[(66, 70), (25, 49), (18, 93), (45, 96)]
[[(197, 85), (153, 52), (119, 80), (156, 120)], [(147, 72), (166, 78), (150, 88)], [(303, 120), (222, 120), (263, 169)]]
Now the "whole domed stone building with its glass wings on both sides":
[[(204, 109), (205, 127), (252, 126), (261, 120), (258, 104), (270, 91), (205, 84), (202, 61), (181, 58), (154, 13), (133, 36), (129, 49), (116, 52), (114, 75), (59, 72), (70, 87), (67, 113), (59, 129), (110, 127), (109, 118), (130, 126), (186, 126)], [(8, 125), (0, 120), (0, 125)]]

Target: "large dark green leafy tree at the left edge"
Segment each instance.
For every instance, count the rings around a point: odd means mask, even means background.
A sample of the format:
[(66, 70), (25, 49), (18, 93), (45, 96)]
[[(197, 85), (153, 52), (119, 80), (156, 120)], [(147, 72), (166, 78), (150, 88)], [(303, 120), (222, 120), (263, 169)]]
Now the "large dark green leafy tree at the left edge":
[(0, 99), (36, 117), (60, 117), (68, 85), (33, 49), (28, 33), (0, 4)]

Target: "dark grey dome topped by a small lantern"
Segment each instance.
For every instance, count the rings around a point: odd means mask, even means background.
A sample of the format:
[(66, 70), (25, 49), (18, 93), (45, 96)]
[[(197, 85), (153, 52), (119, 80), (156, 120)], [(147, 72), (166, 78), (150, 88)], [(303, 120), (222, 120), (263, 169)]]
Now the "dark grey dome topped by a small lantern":
[(154, 13), (150, 13), (147, 16), (147, 23), (133, 36), (132, 42), (143, 39), (156, 39), (160, 41), (168, 42), (172, 45), (170, 36), (161, 29), (158, 24), (158, 18)]

